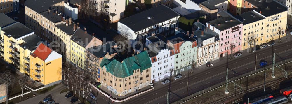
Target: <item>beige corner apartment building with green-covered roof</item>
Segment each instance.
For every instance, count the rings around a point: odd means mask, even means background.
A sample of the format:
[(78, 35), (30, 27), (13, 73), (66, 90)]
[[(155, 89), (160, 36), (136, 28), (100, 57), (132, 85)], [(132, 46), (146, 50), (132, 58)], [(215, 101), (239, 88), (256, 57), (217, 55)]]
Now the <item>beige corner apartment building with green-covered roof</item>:
[(102, 85), (118, 96), (149, 86), (151, 61), (147, 51), (126, 59), (102, 59)]

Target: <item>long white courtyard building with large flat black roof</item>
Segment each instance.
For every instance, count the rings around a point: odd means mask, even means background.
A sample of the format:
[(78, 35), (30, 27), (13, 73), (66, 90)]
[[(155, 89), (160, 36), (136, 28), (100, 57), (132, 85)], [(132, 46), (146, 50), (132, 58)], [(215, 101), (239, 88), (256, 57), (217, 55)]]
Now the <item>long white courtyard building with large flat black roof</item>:
[(144, 40), (153, 33), (173, 33), (179, 16), (171, 8), (159, 5), (118, 21), (118, 33), (124, 35), (126, 30), (130, 35), (125, 37), (132, 43)]

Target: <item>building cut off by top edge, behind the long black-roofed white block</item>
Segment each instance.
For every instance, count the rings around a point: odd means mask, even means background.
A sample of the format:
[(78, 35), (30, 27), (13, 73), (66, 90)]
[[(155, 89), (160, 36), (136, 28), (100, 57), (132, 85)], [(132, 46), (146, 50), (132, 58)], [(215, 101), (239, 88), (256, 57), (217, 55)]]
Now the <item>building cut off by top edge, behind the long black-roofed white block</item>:
[[(168, 7), (172, 7), (172, 4), (173, 4), (173, 0), (150, 0), (150, 2), (151, 3), (148, 5), (151, 5), (151, 7), (159, 6), (161, 4)], [(143, 8), (146, 9), (147, 4), (145, 4), (145, 0), (140, 0), (138, 3), (142, 4)]]

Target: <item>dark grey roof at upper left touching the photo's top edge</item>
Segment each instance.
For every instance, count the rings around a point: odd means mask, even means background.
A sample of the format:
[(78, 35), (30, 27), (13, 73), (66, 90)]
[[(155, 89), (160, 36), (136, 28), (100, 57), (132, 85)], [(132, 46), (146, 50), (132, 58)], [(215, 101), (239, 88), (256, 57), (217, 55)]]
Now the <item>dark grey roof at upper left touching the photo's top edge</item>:
[(41, 13), (47, 11), (49, 8), (55, 8), (53, 5), (62, 1), (64, 0), (27, 0), (24, 5), (37, 13)]

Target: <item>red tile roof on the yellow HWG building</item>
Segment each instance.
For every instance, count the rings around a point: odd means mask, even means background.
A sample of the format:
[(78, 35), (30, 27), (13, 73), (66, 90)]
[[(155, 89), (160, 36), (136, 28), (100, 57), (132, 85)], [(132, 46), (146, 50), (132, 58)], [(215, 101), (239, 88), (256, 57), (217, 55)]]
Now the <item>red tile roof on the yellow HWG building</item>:
[(52, 50), (44, 45), (43, 43), (40, 43), (38, 47), (36, 47), (36, 50), (31, 54), (32, 57), (39, 57), (41, 60), (45, 61), (48, 56), (51, 54)]

